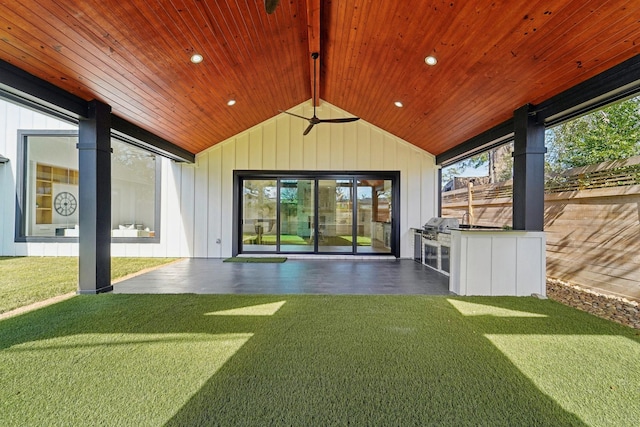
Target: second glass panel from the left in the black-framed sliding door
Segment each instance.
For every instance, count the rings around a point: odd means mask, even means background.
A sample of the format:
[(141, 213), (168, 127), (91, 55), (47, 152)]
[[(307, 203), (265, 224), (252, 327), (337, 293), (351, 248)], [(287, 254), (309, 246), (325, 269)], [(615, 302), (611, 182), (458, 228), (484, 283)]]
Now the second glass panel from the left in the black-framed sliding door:
[(280, 181), (280, 252), (313, 252), (315, 182)]

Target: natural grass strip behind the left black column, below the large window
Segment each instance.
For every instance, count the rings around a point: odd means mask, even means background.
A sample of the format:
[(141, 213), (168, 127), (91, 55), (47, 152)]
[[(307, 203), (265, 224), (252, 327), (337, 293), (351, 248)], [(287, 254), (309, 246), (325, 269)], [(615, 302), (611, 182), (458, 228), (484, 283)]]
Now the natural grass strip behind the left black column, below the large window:
[[(174, 260), (112, 258), (111, 279)], [(77, 257), (0, 257), (0, 314), (77, 289)]]

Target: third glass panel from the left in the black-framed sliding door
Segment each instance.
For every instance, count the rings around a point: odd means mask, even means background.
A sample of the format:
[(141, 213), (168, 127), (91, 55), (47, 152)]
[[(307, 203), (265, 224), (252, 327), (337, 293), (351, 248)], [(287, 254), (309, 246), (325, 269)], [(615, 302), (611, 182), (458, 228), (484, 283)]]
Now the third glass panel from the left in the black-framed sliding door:
[(318, 180), (318, 252), (353, 252), (353, 180)]

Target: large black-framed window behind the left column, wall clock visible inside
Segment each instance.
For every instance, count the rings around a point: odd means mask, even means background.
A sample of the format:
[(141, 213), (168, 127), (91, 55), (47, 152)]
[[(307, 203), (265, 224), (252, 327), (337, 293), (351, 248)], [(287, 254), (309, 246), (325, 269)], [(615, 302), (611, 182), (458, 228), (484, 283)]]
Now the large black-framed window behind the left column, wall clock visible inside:
[[(80, 174), (76, 131), (20, 131), (17, 240), (78, 237)], [(156, 241), (160, 165), (157, 156), (112, 140), (112, 237)]]

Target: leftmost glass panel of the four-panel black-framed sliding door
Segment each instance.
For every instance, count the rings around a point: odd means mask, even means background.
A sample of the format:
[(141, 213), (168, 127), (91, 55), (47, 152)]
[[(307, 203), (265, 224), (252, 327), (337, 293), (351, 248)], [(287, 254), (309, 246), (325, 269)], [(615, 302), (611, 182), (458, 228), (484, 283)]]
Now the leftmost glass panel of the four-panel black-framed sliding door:
[(277, 249), (276, 180), (245, 180), (242, 186), (242, 251)]

